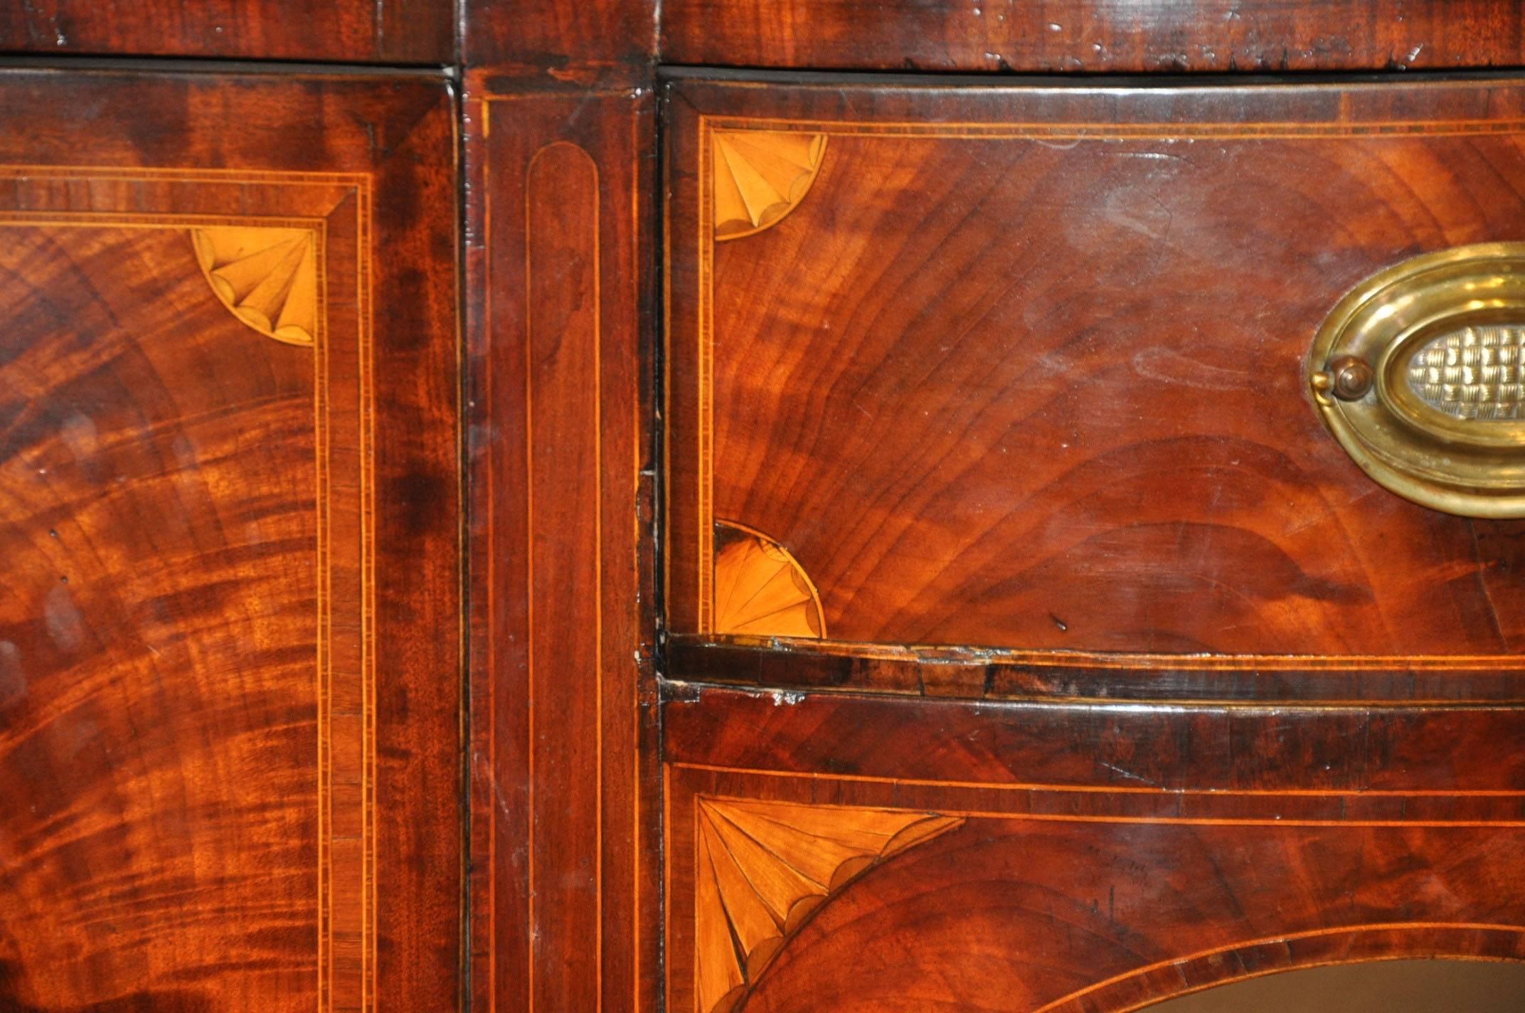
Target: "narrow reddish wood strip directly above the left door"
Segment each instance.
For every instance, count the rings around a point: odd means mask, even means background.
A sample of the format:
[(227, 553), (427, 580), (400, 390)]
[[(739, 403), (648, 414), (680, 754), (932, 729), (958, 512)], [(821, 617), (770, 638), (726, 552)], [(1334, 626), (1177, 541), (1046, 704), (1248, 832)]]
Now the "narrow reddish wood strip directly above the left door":
[(0, 50), (444, 64), (439, 0), (27, 0), (0, 8)]

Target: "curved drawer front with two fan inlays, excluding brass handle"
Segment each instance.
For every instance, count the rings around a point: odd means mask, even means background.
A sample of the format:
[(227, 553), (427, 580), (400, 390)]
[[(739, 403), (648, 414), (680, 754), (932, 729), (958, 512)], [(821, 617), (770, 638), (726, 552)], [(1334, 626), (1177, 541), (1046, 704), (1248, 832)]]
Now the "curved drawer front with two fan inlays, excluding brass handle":
[(1525, 87), (682, 78), (666, 110), (680, 648), (824, 638), (817, 683), (944, 688), (1005, 658), (1071, 696), (1519, 671), (1522, 522), (1377, 487), (1304, 360), (1363, 278), (1525, 235)]

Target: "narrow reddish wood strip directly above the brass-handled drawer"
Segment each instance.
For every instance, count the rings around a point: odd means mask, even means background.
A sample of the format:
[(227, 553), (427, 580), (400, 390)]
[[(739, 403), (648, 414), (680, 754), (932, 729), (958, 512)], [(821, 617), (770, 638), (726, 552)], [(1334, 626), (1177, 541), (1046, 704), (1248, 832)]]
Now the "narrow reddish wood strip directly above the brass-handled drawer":
[(1516, 67), (1513, 0), (666, 0), (674, 64), (935, 72)]

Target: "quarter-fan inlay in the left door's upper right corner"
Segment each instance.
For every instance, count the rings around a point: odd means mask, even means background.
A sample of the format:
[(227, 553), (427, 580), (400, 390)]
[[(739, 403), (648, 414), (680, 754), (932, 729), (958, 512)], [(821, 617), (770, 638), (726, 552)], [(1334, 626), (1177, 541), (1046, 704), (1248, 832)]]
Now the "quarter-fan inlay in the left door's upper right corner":
[(313, 345), (317, 249), (310, 229), (214, 226), (192, 229), (191, 243), (207, 284), (233, 316), (278, 342)]

